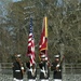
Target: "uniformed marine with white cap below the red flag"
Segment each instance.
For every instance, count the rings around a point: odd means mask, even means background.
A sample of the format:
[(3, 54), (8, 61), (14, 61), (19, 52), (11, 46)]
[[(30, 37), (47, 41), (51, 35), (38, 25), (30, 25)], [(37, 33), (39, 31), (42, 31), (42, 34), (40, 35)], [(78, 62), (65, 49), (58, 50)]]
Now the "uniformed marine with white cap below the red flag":
[(50, 69), (45, 55), (41, 56), (41, 63), (39, 64), (39, 67), (40, 67), (40, 81), (49, 81)]

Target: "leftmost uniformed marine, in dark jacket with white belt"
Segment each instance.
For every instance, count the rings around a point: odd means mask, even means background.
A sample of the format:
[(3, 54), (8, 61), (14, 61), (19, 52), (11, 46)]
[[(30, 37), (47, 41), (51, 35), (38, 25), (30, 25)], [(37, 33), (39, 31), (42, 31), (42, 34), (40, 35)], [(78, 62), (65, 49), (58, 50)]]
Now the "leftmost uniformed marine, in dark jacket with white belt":
[(15, 62), (13, 63), (13, 81), (23, 81), (24, 77), (24, 64), (21, 60), (21, 54), (15, 55)]

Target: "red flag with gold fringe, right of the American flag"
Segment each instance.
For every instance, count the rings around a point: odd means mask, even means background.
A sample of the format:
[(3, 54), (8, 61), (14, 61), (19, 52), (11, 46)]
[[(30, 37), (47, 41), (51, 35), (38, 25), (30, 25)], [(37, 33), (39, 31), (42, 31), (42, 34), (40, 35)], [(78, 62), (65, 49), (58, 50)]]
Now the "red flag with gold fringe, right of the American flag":
[(41, 32), (41, 39), (39, 42), (39, 51), (40, 51), (40, 57), (41, 55), (45, 54), (48, 57), (48, 24), (46, 24), (48, 18), (43, 18), (43, 24), (42, 24), (42, 32)]

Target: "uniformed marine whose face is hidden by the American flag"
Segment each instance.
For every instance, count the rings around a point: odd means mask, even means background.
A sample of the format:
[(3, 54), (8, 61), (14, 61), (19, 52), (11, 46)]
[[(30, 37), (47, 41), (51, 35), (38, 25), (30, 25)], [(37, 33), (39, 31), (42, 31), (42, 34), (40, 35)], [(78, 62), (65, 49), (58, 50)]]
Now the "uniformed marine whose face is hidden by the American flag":
[(27, 66), (27, 79), (28, 79), (28, 81), (36, 81), (37, 80), (36, 64), (30, 66), (30, 62), (27, 62), (26, 66)]

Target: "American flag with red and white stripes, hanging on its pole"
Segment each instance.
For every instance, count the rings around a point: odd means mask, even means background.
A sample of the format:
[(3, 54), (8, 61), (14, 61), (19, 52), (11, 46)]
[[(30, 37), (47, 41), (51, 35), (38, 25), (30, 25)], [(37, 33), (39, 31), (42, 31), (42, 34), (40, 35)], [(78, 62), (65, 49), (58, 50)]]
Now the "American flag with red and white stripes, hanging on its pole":
[(28, 36), (28, 51), (27, 56), (30, 57), (30, 66), (35, 64), (35, 38), (33, 38), (33, 29), (32, 29), (32, 18), (30, 18), (29, 26), (29, 36)]

